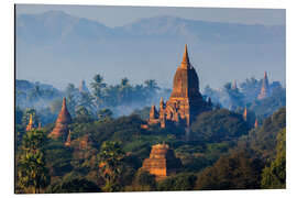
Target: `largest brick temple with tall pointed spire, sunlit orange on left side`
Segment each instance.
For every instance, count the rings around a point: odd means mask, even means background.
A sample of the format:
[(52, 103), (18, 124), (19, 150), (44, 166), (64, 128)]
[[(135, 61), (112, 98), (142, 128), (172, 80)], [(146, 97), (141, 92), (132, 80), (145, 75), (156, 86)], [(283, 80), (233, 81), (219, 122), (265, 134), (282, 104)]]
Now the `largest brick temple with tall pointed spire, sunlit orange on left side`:
[[(204, 100), (199, 92), (199, 78), (191, 66), (188, 57), (187, 45), (180, 66), (174, 76), (173, 91), (168, 101), (160, 101), (160, 109), (152, 106), (150, 111), (148, 125), (160, 124), (166, 128), (166, 124), (177, 123), (188, 128), (194, 119), (202, 111), (211, 110), (211, 100)], [(143, 125), (147, 128), (147, 125)]]

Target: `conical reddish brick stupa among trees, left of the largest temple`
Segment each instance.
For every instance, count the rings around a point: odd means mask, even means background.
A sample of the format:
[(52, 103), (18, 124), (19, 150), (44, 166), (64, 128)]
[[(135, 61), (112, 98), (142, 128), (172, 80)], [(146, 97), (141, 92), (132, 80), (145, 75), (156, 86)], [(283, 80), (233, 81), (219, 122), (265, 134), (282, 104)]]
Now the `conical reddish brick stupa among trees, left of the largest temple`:
[(63, 98), (63, 105), (58, 118), (56, 120), (56, 125), (54, 130), (48, 134), (48, 138), (57, 139), (59, 136), (67, 138), (68, 136), (68, 124), (72, 123), (72, 116), (66, 107), (66, 98)]

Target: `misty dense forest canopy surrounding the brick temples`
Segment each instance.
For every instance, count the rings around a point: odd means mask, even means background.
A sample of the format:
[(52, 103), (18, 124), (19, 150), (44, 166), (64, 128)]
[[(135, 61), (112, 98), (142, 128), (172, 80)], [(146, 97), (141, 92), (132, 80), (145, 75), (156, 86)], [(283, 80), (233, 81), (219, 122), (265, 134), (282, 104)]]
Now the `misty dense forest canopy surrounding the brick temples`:
[[(254, 78), (235, 88), (230, 82), (220, 90), (207, 86), (204, 97), (211, 98), (213, 109), (194, 119), (190, 139), (178, 125), (141, 127), (150, 106), (170, 94), (153, 79), (131, 85), (123, 78), (118, 85), (107, 85), (101, 75), (95, 75), (88, 87), (69, 84), (63, 91), (28, 80), (16, 80), (15, 86), (15, 193), (286, 186), (286, 91), (279, 82), (272, 82), (271, 95), (262, 100), (257, 99), (261, 80)], [(68, 146), (63, 139), (47, 138), (62, 97), (66, 97), (73, 118)], [(30, 117), (35, 129), (26, 131)], [(182, 167), (156, 180), (141, 167), (152, 145), (163, 142)]]

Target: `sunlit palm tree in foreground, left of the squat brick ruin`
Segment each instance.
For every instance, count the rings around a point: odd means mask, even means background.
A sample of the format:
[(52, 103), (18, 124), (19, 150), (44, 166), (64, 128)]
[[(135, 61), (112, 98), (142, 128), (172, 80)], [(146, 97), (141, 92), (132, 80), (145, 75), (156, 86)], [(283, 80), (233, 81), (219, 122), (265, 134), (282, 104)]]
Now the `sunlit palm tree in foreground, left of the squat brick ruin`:
[(119, 142), (103, 142), (98, 154), (99, 173), (103, 177), (106, 184), (105, 191), (119, 191), (120, 176), (123, 172), (122, 160), (125, 156)]

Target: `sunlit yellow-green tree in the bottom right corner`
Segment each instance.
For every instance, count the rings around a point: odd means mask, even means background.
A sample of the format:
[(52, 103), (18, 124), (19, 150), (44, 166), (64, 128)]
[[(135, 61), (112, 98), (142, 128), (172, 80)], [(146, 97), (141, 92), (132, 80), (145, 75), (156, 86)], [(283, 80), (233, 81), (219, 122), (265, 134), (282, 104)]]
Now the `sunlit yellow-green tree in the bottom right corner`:
[(276, 158), (262, 173), (262, 188), (286, 188), (286, 130), (277, 135)]

